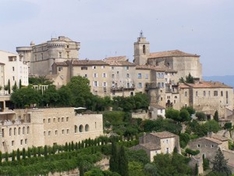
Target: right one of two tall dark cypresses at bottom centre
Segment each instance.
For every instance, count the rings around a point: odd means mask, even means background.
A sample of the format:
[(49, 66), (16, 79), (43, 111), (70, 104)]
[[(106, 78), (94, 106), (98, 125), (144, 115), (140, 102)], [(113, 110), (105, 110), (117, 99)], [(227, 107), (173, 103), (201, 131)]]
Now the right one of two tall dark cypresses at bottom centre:
[(128, 160), (125, 155), (124, 147), (121, 146), (119, 151), (119, 174), (121, 176), (128, 176)]

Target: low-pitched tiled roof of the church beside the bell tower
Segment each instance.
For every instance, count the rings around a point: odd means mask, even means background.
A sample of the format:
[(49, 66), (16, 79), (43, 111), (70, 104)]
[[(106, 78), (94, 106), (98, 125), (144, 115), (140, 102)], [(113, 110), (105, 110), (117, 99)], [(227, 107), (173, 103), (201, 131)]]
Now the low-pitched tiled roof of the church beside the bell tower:
[(189, 54), (180, 50), (170, 50), (150, 53), (148, 58), (160, 58), (160, 57), (200, 57), (197, 54)]

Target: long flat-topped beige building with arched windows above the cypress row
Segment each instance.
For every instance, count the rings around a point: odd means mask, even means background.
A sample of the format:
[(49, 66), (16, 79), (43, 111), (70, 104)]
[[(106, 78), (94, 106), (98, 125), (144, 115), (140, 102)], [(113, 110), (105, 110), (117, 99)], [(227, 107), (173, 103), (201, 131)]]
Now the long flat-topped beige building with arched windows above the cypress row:
[(74, 108), (16, 109), (0, 112), (0, 151), (64, 145), (103, 134), (102, 114), (77, 114)]

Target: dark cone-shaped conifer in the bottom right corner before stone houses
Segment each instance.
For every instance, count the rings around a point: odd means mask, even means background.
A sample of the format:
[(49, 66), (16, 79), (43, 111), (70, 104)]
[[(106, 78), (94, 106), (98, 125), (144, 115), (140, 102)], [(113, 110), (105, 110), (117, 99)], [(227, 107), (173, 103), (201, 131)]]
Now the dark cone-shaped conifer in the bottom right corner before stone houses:
[(227, 166), (227, 160), (224, 159), (223, 153), (220, 148), (217, 150), (214, 160), (212, 161), (212, 171), (226, 176), (232, 175), (231, 170)]

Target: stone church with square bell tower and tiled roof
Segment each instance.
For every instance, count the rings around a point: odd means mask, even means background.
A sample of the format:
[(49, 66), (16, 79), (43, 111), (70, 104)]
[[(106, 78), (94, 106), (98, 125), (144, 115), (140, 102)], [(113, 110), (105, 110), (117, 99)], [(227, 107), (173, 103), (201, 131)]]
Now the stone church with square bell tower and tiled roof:
[(179, 50), (150, 53), (150, 43), (141, 32), (134, 43), (134, 63), (136, 65), (151, 65), (167, 67), (177, 71), (176, 81), (191, 74), (195, 78), (202, 78), (200, 56)]

